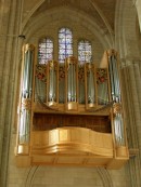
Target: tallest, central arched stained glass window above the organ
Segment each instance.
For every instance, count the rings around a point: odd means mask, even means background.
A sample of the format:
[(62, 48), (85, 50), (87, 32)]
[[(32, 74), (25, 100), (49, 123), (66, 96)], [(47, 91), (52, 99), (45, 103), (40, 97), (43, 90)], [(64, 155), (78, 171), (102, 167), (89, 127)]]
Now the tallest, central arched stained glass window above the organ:
[(64, 59), (73, 55), (73, 35), (68, 28), (59, 30), (59, 62), (64, 63)]

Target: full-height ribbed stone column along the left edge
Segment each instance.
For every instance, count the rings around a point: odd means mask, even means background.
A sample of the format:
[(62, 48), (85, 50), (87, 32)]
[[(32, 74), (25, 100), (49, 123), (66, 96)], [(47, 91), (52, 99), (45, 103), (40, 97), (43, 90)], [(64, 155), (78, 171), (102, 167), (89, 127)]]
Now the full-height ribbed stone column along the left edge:
[[(22, 0), (0, 2), (0, 186), (7, 186)], [(14, 152), (14, 150), (13, 150)]]

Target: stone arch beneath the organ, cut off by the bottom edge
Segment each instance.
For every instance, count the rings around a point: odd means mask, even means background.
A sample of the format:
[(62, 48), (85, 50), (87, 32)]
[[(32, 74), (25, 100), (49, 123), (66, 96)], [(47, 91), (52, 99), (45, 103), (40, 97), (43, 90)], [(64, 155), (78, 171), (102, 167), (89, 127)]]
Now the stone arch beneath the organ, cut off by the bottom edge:
[[(63, 181), (62, 176), (65, 178)], [(49, 183), (53, 183), (53, 185), (57, 186), (61, 184), (62, 186), (74, 186), (76, 183), (86, 183), (86, 186), (99, 186), (99, 187), (113, 187), (113, 183), (111, 176), (105, 169), (101, 168), (59, 168), (59, 166), (33, 166), (29, 169), (25, 187), (33, 187), (37, 185), (38, 179), (42, 178), (53, 178), (52, 179), (43, 179), (43, 185), (48, 185)], [(79, 181), (78, 181), (79, 179)], [(82, 181), (82, 182), (81, 182)], [(88, 184), (90, 182), (90, 184)]]

